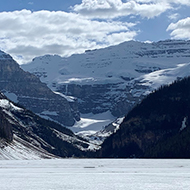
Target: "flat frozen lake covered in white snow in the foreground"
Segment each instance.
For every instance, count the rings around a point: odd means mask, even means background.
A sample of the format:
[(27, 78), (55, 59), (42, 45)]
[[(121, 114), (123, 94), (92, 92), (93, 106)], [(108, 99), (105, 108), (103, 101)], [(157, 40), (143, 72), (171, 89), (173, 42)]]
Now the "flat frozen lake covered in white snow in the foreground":
[(190, 160), (0, 160), (1, 190), (189, 190)]

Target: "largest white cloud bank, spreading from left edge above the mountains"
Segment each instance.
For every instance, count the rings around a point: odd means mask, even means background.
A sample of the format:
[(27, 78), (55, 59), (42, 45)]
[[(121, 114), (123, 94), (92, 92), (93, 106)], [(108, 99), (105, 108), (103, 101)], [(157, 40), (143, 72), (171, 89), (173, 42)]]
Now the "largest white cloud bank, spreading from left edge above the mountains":
[(20, 63), (44, 54), (68, 56), (134, 39), (134, 25), (95, 21), (63, 11), (1, 12), (0, 49)]

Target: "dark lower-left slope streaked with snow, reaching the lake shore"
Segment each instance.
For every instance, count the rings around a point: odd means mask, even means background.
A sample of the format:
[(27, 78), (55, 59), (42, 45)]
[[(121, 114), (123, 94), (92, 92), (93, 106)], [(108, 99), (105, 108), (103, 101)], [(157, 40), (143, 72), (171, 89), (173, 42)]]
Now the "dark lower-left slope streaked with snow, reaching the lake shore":
[(0, 94), (0, 158), (84, 156), (90, 144)]

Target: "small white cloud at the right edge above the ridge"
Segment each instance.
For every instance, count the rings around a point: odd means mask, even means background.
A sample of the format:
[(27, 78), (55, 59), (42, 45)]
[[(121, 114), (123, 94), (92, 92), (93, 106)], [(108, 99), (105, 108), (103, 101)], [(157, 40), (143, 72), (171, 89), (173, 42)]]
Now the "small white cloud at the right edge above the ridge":
[(190, 39), (190, 17), (171, 23), (167, 31), (172, 31), (171, 36), (175, 39)]

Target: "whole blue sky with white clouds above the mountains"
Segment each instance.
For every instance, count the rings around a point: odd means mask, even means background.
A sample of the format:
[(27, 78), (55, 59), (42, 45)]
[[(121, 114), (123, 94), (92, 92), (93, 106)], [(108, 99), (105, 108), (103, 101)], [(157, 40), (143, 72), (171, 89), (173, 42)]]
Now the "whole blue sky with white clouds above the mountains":
[(0, 50), (19, 64), (124, 41), (190, 40), (190, 0), (0, 0)]

